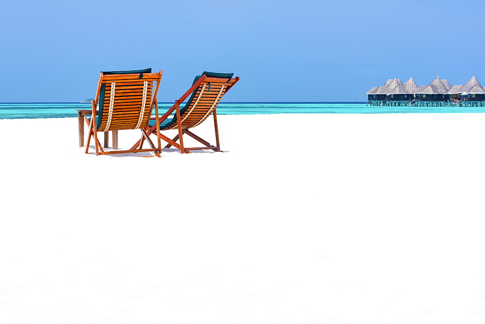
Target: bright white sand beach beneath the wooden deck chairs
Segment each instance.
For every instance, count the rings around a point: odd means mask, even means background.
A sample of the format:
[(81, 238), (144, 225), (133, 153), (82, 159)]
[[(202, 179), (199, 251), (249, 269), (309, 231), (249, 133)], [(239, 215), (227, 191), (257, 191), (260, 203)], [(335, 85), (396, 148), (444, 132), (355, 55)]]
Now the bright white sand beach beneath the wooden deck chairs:
[(485, 114), (218, 117), (160, 159), (0, 120), (0, 322), (485, 323)]

